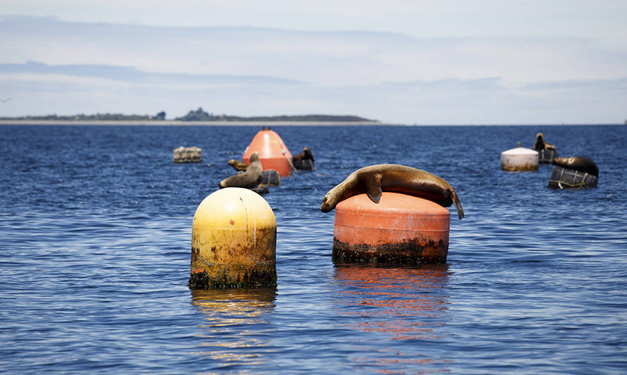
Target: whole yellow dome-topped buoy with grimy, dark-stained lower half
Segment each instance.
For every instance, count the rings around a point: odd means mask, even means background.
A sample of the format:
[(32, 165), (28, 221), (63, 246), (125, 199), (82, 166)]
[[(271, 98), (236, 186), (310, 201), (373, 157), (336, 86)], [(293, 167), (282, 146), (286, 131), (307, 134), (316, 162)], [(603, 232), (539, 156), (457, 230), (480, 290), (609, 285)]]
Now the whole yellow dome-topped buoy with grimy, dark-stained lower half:
[(276, 220), (249, 189), (215, 191), (192, 222), (190, 288), (276, 286)]

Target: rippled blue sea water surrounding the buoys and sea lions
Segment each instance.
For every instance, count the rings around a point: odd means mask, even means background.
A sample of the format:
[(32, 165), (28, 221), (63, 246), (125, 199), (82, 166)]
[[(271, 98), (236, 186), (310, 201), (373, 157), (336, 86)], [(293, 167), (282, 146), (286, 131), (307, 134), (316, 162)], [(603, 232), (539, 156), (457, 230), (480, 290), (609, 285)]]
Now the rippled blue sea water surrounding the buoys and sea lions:
[[(0, 373), (627, 372), (627, 127), (273, 129), (318, 167), (264, 196), (278, 286), (190, 291), (194, 211), (259, 127), (0, 126)], [(502, 171), (537, 132), (599, 186)], [(321, 200), (377, 163), (456, 189), (445, 265), (333, 264)]]

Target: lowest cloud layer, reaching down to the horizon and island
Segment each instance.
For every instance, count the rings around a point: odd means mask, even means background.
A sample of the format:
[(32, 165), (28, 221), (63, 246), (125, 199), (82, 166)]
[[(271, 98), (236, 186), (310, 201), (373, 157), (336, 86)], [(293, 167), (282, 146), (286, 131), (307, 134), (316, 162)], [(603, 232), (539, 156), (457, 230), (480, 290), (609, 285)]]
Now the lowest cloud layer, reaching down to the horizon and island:
[[(352, 114), (408, 124), (596, 123), (621, 120), (627, 105), (626, 79), (538, 82), (522, 88), (511, 88), (499, 77), (327, 87), (242, 77), (163, 80), (168, 75), (106, 66), (76, 66), (81, 74), (62, 74), (67, 66), (23, 65), (0, 65), (0, 96), (12, 97), (8, 103), (21, 108), (3, 115), (166, 110), (175, 117), (202, 106), (231, 115)], [(36, 67), (43, 69), (37, 72)], [(102, 71), (124, 74), (103, 77)], [(141, 79), (129, 79), (129, 71)]]

